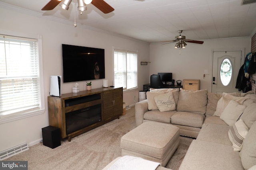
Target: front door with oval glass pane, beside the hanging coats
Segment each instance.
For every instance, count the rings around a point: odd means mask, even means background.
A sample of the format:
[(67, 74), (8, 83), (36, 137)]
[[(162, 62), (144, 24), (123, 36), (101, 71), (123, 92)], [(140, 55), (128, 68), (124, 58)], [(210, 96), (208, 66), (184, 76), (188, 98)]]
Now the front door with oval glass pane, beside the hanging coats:
[(242, 50), (213, 51), (212, 54), (212, 92), (238, 92), (236, 79), (242, 61)]

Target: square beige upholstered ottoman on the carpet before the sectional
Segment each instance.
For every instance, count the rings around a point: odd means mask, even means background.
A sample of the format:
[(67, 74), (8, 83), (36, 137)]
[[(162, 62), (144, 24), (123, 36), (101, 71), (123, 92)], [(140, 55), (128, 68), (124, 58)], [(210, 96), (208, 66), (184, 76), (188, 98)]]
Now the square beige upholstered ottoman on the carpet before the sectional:
[(121, 138), (122, 156), (141, 157), (166, 166), (180, 143), (180, 130), (174, 125), (144, 122)]

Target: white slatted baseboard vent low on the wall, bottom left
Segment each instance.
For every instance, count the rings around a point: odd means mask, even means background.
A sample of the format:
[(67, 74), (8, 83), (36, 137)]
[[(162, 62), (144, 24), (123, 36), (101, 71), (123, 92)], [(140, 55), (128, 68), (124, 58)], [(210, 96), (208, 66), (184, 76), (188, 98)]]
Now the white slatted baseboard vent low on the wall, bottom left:
[(21, 145), (18, 145), (16, 147), (13, 147), (13, 148), (10, 148), (10, 149), (7, 149), (7, 150), (4, 150), (2, 152), (0, 152), (0, 160), (4, 160), (6, 158), (9, 158), (11, 156), (14, 156), (18, 153), (21, 153), (25, 150), (28, 150), (28, 143), (23, 143)]

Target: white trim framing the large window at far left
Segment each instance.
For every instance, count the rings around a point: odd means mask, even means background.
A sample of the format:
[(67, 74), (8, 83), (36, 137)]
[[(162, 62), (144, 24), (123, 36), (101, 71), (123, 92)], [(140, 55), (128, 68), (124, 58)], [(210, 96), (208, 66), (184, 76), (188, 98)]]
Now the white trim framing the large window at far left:
[[(15, 36), (12, 36), (15, 37)], [(22, 37), (21, 37), (22, 38)], [(29, 38), (28, 38), (29, 39)], [(0, 124), (8, 123), (11, 121), (17, 121), (27, 117), (43, 114), (45, 111), (45, 102), (44, 102), (44, 74), (43, 74), (43, 57), (42, 57), (42, 35), (37, 36), (38, 40), (38, 59), (39, 59), (39, 81), (40, 81), (40, 93), (41, 93), (41, 105), (40, 109), (34, 111), (27, 111), (18, 115), (4, 117), (0, 119)]]

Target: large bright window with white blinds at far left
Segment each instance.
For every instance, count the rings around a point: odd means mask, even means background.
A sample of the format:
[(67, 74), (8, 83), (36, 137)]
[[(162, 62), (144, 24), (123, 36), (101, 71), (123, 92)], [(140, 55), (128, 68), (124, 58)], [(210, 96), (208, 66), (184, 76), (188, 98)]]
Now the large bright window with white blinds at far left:
[(38, 46), (38, 39), (0, 35), (1, 123), (6, 119), (11, 121), (44, 111), (40, 79), (42, 58), (39, 57)]

